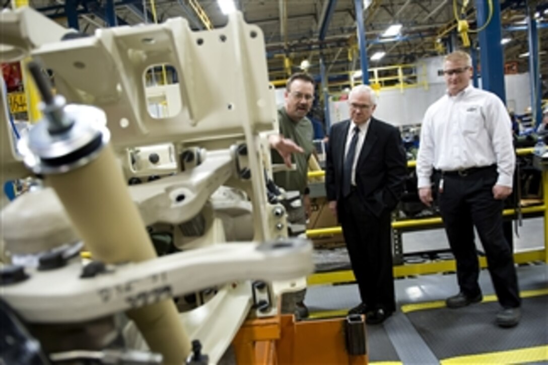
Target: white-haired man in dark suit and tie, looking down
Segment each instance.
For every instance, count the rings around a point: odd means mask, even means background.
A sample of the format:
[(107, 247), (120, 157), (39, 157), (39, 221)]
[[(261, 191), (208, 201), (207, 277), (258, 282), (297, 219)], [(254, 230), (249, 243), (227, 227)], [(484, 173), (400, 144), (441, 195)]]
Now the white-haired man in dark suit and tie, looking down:
[(372, 117), (375, 94), (358, 85), (349, 95), (350, 120), (329, 134), (326, 192), (343, 235), (362, 303), (349, 314), (382, 323), (396, 310), (391, 212), (403, 192), (406, 155), (399, 130)]

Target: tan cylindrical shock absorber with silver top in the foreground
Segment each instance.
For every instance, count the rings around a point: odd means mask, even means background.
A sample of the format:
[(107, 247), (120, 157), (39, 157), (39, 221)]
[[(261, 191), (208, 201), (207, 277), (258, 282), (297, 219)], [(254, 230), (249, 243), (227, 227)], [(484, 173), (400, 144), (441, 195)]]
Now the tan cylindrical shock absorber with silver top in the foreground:
[[(36, 62), (28, 67), (42, 96), (44, 118), (21, 142), (25, 164), (53, 187), (94, 259), (112, 264), (154, 259), (156, 252), (109, 144), (105, 120), (96, 120), (104, 113), (91, 106), (65, 106), (62, 96), (53, 95), (41, 67)], [(191, 344), (171, 298), (131, 309), (127, 315), (164, 363), (184, 363)]]

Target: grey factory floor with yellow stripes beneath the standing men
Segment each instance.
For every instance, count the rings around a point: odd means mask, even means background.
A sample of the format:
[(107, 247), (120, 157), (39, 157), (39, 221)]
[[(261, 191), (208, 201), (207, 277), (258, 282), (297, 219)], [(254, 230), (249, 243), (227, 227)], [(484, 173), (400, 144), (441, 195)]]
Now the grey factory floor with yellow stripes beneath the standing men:
[[(514, 247), (515, 252), (543, 248), (543, 219), (524, 220)], [(403, 248), (407, 258), (423, 258), (424, 252), (448, 246), (443, 230), (438, 229), (404, 233)], [(316, 265), (326, 267), (335, 261), (335, 266), (343, 268), (345, 255), (344, 249), (316, 252)], [(516, 270), (523, 303), (522, 320), (514, 328), (495, 324), (500, 306), (487, 270), (479, 277), (482, 303), (456, 310), (444, 305), (447, 296), (459, 291), (454, 272), (397, 279), (398, 310), (383, 324), (367, 327), (370, 363), (548, 364), (548, 266), (535, 261), (517, 265)], [(305, 298), (311, 320), (344, 315), (358, 303), (355, 283), (310, 286)]]

